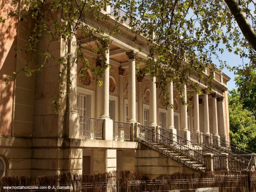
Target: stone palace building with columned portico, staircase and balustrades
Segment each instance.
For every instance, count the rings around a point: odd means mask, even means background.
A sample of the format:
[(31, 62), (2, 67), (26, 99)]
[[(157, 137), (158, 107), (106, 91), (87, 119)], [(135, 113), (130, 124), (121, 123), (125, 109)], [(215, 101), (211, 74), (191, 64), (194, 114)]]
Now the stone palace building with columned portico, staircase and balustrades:
[[(9, 7), (14, 9), (11, 4)], [(109, 11), (107, 6), (102, 14)], [(89, 25), (106, 31), (114, 23), (113, 18), (88, 19)], [(15, 52), (14, 47), (26, 44), (32, 21), (12, 19), (1, 26), (0, 76), (6, 76), (30, 59), (29, 53)], [(62, 40), (50, 45), (51, 54), (57, 59), (50, 59), (42, 71), (30, 77), (21, 73), (7, 84), (0, 80), (1, 176), (130, 170), (154, 177), (175, 172), (204, 172), (206, 153), (227, 152), (230, 78), (215, 68), (213, 88), (206, 93), (208, 83), (198, 82), (196, 76), (191, 76), (203, 94), (193, 93), (189, 98), (188, 93), (193, 90), (184, 84), (182, 91), (184, 100), (190, 99), (189, 108), (182, 104), (175, 83), (171, 83), (168, 93), (174, 108), (166, 110), (156, 78), (148, 75), (136, 78), (136, 60), (148, 54), (147, 39), (137, 36), (134, 44), (135, 35), (128, 24), (120, 23), (119, 28), (120, 33), (110, 36), (111, 44), (105, 52), (110, 67), (102, 78), (103, 86), (98, 85), (91, 70), (86, 78), (79, 78), (82, 64), (73, 61), (72, 86), (66, 86), (65, 90), (70, 94), (60, 98), (58, 114), (52, 101), (59, 90), (62, 66), (58, 58), (64, 54)], [(49, 41), (42, 38), (40, 48), (44, 50)], [(85, 38), (82, 45), (86, 58), (96, 67), (93, 58), (100, 55), (91, 50), (96, 46), (94, 41)], [(73, 38), (72, 56), (76, 46)], [(40, 63), (36, 52), (31, 55)], [(206, 69), (205, 78), (208, 75)]]

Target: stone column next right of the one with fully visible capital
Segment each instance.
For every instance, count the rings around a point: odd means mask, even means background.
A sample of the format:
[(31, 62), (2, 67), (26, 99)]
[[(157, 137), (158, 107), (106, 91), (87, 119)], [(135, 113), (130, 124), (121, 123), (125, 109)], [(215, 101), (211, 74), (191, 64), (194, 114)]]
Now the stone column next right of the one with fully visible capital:
[(150, 81), (150, 98), (149, 98), (149, 124), (156, 126), (156, 77)]

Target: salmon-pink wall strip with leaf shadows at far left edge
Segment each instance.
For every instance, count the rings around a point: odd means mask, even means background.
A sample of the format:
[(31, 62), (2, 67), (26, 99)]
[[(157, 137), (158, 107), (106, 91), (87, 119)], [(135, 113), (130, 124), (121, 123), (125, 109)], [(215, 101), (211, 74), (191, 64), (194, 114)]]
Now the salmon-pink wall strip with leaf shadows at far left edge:
[[(0, 1), (0, 17), (6, 18), (16, 9), (11, 0)], [(15, 70), (18, 19), (10, 18), (0, 23), (0, 77), (11, 75)], [(13, 80), (4, 83), (0, 80), (0, 136), (11, 136)]]

